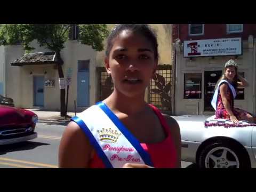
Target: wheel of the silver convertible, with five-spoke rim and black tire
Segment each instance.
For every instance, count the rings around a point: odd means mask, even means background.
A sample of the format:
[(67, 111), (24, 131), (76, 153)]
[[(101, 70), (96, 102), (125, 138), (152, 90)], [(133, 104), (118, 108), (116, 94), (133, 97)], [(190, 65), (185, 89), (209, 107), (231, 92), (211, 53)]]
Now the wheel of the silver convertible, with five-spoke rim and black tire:
[(205, 146), (198, 158), (200, 168), (250, 168), (245, 149), (235, 142), (214, 141)]

